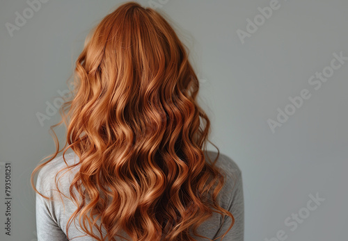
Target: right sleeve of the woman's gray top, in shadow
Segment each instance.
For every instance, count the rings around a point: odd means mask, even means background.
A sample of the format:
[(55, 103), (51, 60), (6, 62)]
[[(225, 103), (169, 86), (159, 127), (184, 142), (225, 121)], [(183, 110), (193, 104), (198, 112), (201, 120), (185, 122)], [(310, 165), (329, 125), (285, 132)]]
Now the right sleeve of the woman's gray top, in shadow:
[[(243, 194), (243, 181), (242, 181), (242, 172), (238, 167), (237, 169), (233, 169), (233, 172), (237, 176), (237, 180), (234, 181), (235, 185), (230, 188), (232, 188), (232, 191), (230, 191), (230, 195), (227, 195), (225, 197), (229, 197), (228, 200), (228, 208), (226, 208), (230, 213), (232, 213), (233, 217), (235, 218), (235, 224), (233, 224), (232, 228), (230, 228), (230, 231), (228, 231), (228, 228), (230, 227), (232, 219), (228, 216), (225, 217), (225, 221), (223, 222), (223, 225), (221, 226), (219, 232), (216, 234), (214, 238), (217, 238), (226, 231), (226, 236), (222, 239), (223, 241), (244, 241), (244, 194)], [(219, 238), (216, 241), (220, 241), (221, 238)]]

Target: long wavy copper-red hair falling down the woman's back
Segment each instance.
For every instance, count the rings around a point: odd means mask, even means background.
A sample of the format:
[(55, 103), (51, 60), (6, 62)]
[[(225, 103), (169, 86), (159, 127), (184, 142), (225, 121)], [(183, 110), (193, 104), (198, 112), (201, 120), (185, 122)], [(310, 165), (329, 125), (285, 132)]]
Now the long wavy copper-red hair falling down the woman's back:
[[(231, 217), (232, 228), (232, 213), (217, 200), (225, 183), (215, 165), (219, 149), (213, 144), (214, 162), (205, 158), (210, 121), (196, 101), (199, 81), (188, 52), (164, 15), (136, 2), (123, 3), (90, 32), (61, 122), (50, 127), (56, 151), (31, 174), (40, 194), (33, 176), (58, 153), (67, 165), (59, 172), (79, 165), (69, 189), (77, 210), (66, 233), (78, 215), (95, 240), (124, 238), (120, 231), (139, 241), (195, 240), (191, 231), (206, 238), (196, 231), (213, 212)], [(53, 128), (63, 123), (60, 150)], [(79, 157), (74, 165), (64, 157), (70, 148)]]

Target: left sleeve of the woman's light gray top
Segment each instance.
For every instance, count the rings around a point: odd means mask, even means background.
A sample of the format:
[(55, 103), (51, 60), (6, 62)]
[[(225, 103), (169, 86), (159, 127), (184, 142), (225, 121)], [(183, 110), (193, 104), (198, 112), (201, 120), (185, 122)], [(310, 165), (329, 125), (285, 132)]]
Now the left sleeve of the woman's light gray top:
[[(46, 197), (49, 197), (52, 188), (49, 183), (52, 183), (54, 177), (47, 176), (44, 174), (42, 167), (38, 174), (38, 179), (36, 181), (36, 189)], [(54, 214), (52, 213), (52, 205), (50, 201), (41, 197), (40, 194), (36, 193), (35, 196), (35, 216), (36, 216), (36, 231), (38, 235), (38, 241), (68, 241), (65, 233), (58, 226), (54, 219)]]

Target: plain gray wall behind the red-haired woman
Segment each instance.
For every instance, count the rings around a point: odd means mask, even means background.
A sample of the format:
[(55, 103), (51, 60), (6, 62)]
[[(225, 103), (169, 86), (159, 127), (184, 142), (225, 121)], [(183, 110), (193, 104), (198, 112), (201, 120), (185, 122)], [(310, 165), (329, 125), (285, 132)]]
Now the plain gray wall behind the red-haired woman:
[[(11, 37), (6, 23), (15, 24), (15, 13), (29, 5), (0, 1), (0, 161), (12, 163), (13, 194), (11, 239), (3, 228), (0, 165), (0, 240), (36, 240), (29, 177), (55, 150), (48, 131), (60, 120), (57, 113), (42, 126), (36, 114), (47, 115), (47, 103), (67, 89), (86, 34), (120, 3), (51, 0)], [(149, 6), (147, 0), (139, 3)], [(169, 0), (161, 10), (191, 49), (212, 142), (242, 169), (245, 240), (267, 240), (281, 230), (283, 240), (347, 240), (348, 63), (333, 70), (319, 90), (308, 78), (330, 66), (333, 53), (348, 56), (348, 2), (279, 0), (278, 9), (242, 43), (238, 29), (246, 31), (247, 19), (267, 6), (268, 0)], [(310, 99), (272, 133), (267, 119), (276, 121), (277, 108), (285, 110), (288, 98), (303, 89)], [(317, 193), (325, 200), (306, 213), (309, 195)], [(299, 212), (307, 216), (292, 231), (284, 221)]]

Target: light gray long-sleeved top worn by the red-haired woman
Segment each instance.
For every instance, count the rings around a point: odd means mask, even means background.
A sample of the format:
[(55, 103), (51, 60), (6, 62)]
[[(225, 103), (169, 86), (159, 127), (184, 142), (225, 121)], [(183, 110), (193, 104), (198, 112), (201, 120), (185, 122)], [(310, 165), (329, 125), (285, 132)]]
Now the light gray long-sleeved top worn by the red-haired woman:
[[(213, 151), (208, 151), (208, 155), (212, 161), (215, 160), (217, 153)], [(72, 165), (78, 162), (78, 156), (74, 152), (65, 154), (65, 160), (68, 165)], [(244, 240), (244, 196), (243, 196), (243, 186), (242, 186), (242, 172), (237, 166), (237, 164), (228, 156), (219, 154), (219, 159), (216, 161), (216, 165), (226, 172), (226, 184), (219, 193), (219, 204), (235, 217), (235, 224), (232, 226), (230, 231), (226, 234), (223, 241), (243, 241)], [(68, 240), (65, 233), (65, 228), (68, 224), (68, 219), (77, 209), (77, 206), (72, 203), (72, 201), (63, 195), (58, 194), (56, 191), (56, 184), (54, 181), (54, 176), (56, 173), (65, 167), (65, 162), (62, 156), (57, 156), (49, 162), (47, 165), (42, 167), (38, 173), (38, 179), (36, 181), (36, 188), (38, 191), (45, 196), (54, 197), (54, 201), (49, 201), (44, 199), (39, 194), (36, 194), (36, 229), (38, 234), (38, 241), (66, 241)], [(59, 177), (59, 190), (63, 192), (67, 197), (70, 197), (69, 186), (74, 174), (77, 172), (77, 167), (67, 172), (65, 169), (60, 172), (57, 176)], [(65, 173), (67, 172), (67, 173)], [(237, 180), (237, 181), (235, 181)], [(75, 190), (75, 193), (76, 190)], [(78, 195), (77, 195), (78, 197)], [(61, 202), (61, 198), (64, 201), (64, 205)], [(222, 216), (219, 213), (214, 213), (212, 217), (207, 219), (203, 224), (198, 227), (198, 234), (203, 235), (207, 238), (214, 239), (225, 233), (231, 223), (232, 219), (230, 217), (225, 217), (225, 222), (222, 224)], [(100, 222), (97, 222), (99, 225)], [(88, 225), (88, 224), (87, 224)], [(94, 229), (93, 229), (94, 230)], [(95, 229), (95, 234), (98, 232)], [(104, 229), (103, 233), (104, 233)], [(83, 233), (81, 227), (79, 226), (79, 220), (76, 218), (69, 226), (69, 238), (75, 241), (95, 241), (94, 238)], [(120, 233), (125, 238), (129, 238), (127, 233)], [(78, 237), (79, 238), (76, 238)], [(196, 240), (207, 240), (205, 238), (200, 238), (193, 236)], [(118, 240), (118, 238), (116, 238)], [(219, 238), (218, 240), (221, 240)], [(135, 241), (135, 240), (134, 240)]]

